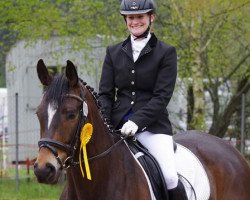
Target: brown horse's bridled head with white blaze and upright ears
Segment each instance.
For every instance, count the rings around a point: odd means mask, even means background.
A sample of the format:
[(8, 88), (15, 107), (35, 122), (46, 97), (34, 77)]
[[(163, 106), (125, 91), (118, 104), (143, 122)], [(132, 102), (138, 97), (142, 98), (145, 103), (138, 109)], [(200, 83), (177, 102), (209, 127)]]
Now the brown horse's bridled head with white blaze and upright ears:
[(34, 173), (39, 182), (55, 184), (64, 168), (77, 164), (79, 132), (87, 120), (90, 95), (71, 61), (65, 73), (51, 76), (39, 60), (37, 74), (45, 92), (36, 112), (41, 139)]

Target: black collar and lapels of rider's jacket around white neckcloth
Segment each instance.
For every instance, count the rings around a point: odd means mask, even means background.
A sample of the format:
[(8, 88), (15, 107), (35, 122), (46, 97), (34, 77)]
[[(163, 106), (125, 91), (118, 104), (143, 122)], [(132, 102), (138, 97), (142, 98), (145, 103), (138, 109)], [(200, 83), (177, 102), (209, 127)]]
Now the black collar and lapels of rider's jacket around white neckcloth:
[[(153, 47), (156, 46), (157, 43), (157, 37), (155, 36), (154, 33), (151, 33), (151, 38), (148, 41), (148, 43), (146, 44), (146, 46), (143, 48), (143, 50), (141, 51), (139, 58), (146, 54), (149, 53)], [(122, 50), (133, 60), (133, 55), (132, 55), (132, 45), (131, 45), (131, 39), (130, 39), (130, 35), (128, 36), (128, 38), (122, 43)], [(138, 58), (138, 59), (139, 59)], [(138, 60), (137, 59), (137, 60)]]

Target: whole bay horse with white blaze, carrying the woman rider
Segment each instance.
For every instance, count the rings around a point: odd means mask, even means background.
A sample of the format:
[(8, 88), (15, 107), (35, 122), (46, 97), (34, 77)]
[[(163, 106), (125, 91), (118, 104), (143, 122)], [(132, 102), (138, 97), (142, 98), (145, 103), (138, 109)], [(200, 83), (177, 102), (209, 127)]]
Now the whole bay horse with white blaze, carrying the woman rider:
[[(36, 112), (41, 137), (34, 164), (38, 182), (56, 184), (65, 169), (67, 182), (61, 200), (154, 199), (140, 164), (125, 139), (103, 117), (97, 93), (78, 78), (74, 64), (67, 61), (65, 73), (51, 76), (39, 60), (37, 73), (46, 87)], [(85, 152), (89, 170), (85, 165), (82, 172), (81, 130), (86, 124), (92, 126), (93, 133)], [(250, 199), (250, 167), (234, 147), (198, 131), (174, 138), (204, 166), (210, 185), (208, 199)], [(91, 177), (85, 177), (87, 171)]]

